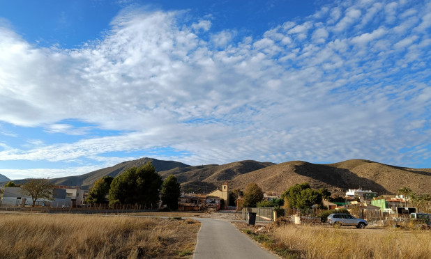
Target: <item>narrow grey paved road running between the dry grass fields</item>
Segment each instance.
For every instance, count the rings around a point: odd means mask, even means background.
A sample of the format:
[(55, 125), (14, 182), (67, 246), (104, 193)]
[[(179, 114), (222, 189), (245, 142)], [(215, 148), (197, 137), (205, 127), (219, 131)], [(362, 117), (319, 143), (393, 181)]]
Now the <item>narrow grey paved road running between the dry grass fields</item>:
[(278, 258), (260, 248), (254, 241), (239, 232), (228, 221), (195, 219), (202, 222), (202, 227), (197, 234), (194, 259)]

